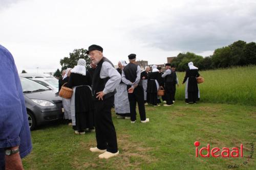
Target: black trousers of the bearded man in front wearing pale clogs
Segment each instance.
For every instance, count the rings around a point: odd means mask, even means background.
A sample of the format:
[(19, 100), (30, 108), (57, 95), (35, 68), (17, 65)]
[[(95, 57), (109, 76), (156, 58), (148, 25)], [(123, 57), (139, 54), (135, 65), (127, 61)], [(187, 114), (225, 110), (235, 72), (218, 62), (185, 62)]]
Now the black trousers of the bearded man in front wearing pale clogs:
[(96, 101), (95, 107), (95, 132), (97, 148), (111, 153), (116, 153), (116, 130), (112, 122), (111, 108), (114, 104), (114, 95), (103, 101)]

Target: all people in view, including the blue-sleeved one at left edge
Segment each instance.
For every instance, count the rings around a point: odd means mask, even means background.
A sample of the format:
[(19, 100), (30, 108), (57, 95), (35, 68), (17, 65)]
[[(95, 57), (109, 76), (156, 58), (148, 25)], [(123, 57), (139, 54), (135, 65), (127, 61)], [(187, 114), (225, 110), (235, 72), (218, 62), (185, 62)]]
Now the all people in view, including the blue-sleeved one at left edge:
[[(60, 80), (61, 86), (73, 89), (71, 99), (63, 99), (65, 118), (70, 121), (75, 134), (85, 134), (86, 130), (96, 132), (97, 145), (90, 148), (91, 152), (98, 152), (99, 158), (108, 159), (119, 154), (117, 137), (112, 122), (111, 108), (115, 106), (116, 114), (120, 117), (130, 118), (136, 123), (136, 105), (138, 103), (141, 123), (150, 122), (146, 118), (145, 105), (147, 103), (159, 106), (158, 96), (160, 88), (165, 89), (162, 100), (164, 106), (171, 106), (175, 101), (176, 84), (178, 84), (175, 67), (165, 64), (166, 71), (153, 65), (152, 71), (146, 67), (141, 72), (136, 64), (136, 54), (128, 56), (129, 63), (120, 60), (118, 69), (110, 60), (103, 57), (103, 48), (91, 45), (87, 54), (91, 59), (91, 68), (86, 69), (86, 61), (79, 59), (74, 68), (68, 68)], [(2, 58), (2, 89), (0, 98), (1, 109), (0, 124), (2, 129), (0, 137), (0, 169), (22, 169), (20, 158), (28, 155), (32, 150), (31, 135), (26, 113), (26, 106), (22, 86), (17, 69), (10, 52), (0, 45)], [(198, 68), (192, 62), (183, 83), (186, 83), (186, 103), (196, 103), (200, 98), (197, 85), (199, 77)], [(17, 118), (18, 117), (18, 118)]]

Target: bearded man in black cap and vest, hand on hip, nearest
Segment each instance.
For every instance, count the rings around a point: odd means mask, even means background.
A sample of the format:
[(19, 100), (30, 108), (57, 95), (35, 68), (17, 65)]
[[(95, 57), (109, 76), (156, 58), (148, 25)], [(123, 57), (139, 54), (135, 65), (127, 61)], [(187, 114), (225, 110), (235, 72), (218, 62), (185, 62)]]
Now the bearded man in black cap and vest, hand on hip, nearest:
[(90, 151), (102, 153), (99, 158), (108, 159), (119, 154), (111, 108), (121, 76), (102, 52), (103, 48), (99, 45), (91, 45), (87, 51), (92, 63), (97, 65), (92, 80), (97, 147), (90, 148)]

